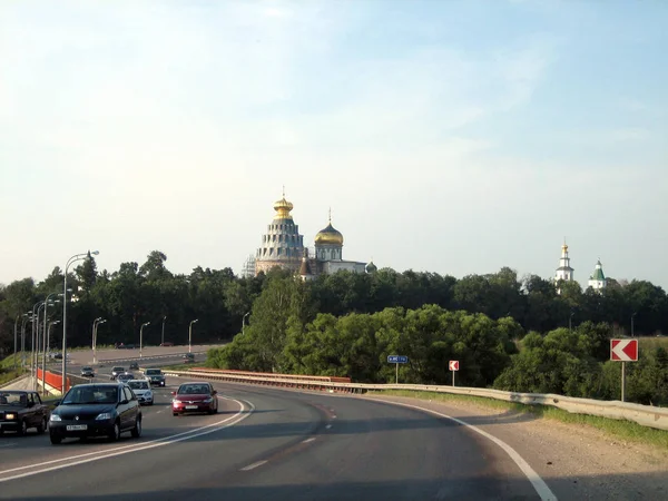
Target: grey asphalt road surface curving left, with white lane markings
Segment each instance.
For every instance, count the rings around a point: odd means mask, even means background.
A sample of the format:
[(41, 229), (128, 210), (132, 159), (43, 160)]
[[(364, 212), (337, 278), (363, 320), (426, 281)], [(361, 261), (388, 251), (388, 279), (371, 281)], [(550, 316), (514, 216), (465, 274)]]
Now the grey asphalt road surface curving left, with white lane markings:
[(169, 379), (171, 387), (143, 407), (138, 440), (0, 439), (0, 499), (541, 499), (508, 453), (452, 421), (358, 397), (225, 383), (216, 384), (217, 415), (175, 418), (169, 391), (180, 381)]

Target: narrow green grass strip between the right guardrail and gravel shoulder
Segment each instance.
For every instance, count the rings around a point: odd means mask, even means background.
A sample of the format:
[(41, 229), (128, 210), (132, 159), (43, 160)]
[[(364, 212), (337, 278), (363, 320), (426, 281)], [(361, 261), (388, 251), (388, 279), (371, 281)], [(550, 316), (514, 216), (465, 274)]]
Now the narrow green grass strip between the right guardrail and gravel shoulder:
[(424, 391), (412, 392), (402, 390), (370, 391), (369, 393), (375, 395), (410, 396), (418, 400), (463, 402), (483, 405), (492, 409), (528, 413), (534, 415), (537, 419), (543, 418), (547, 420), (560, 421), (567, 424), (591, 426), (607, 433), (608, 435), (621, 440), (636, 443), (647, 443), (668, 450), (668, 431), (641, 426), (640, 424), (633, 423), (632, 421), (611, 420), (608, 418), (600, 418), (587, 414), (571, 414), (570, 412), (557, 407), (550, 407), (548, 405), (527, 405), (521, 403), (504, 402), (501, 400), (484, 399), (481, 396), (471, 395), (455, 395), (450, 393), (436, 393)]

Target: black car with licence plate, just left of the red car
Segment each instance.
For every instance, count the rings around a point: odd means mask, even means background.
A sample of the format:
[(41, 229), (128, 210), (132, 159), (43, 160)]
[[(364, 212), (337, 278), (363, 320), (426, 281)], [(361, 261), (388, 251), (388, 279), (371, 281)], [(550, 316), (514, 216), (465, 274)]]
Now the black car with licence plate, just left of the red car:
[(127, 384), (78, 384), (66, 393), (49, 421), (52, 444), (68, 438), (116, 441), (128, 431), (134, 438), (141, 435), (141, 409)]

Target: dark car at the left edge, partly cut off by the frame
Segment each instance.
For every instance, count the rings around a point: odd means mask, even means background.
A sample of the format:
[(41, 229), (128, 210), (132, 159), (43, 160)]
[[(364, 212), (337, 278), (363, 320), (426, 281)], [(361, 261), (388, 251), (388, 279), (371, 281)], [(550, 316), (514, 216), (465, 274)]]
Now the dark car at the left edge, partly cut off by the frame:
[(31, 428), (43, 433), (48, 424), (49, 407), (42, 404), (39, 393), (0, 390), (0, 435), (7, 431), (24, 435)]

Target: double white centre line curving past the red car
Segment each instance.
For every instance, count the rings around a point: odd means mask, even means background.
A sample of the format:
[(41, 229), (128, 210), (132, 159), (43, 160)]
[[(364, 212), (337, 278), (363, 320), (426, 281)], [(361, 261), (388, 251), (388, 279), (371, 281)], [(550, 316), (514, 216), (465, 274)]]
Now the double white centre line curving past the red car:
[[(16, 472), (16, 471), (20, 471), (20, 470), (28, 470), (28, 469), (32, 469), (32, 468), (40, 468), (40, 466), (46, 466), (48, 464), (61, 463), (63, 461), (71, 461), (71, 460), (79, 459), (79, 458), (86, 458), (86, 459), (81, 459), (80, 461), (75, 461), (75, 462), (67, 463), (67, 464), (57, 464), (55, 466), (47, 466), (47, 468), (42, 468), (40, 470), (30, 471), (30, 472), (26, 472), (26, 473), (19, 473), (19, 474), (16, 474), (13, 477), (7, 477), (4, 479), (0, 479), (0, 483), (8, 482), (10, 480), (21, 479), (21, 478), (24, 478), (24, 477), (36, 475), (36, 474), (39, 474), (39, 473), (46, 473), (46, 472), (49, 472), (49, 471), (61, 470), (63, 468), (76, 466), (78, 464), (90, 463), (92, 461), (98, 461), (98, 460), (106, 459), (106, 458), (114, 458), (114, 456), (117, 456), (117, 455), (128, 454), (130, 452), (145, 451), (147, 449), (154, 449), (154, 448), (159, 448), (159, 446), (163, 446), (163, 445), (169, 445), (169, 444), (173, 444), (173, 443), (176, 443), (176, 442), (181, 442), (184, 440), (195, 439), (195, 438), (202, 436), (202, 435), (208, 435), (209, 433), (217, 432), (219, 430), (233, 426), (233, 425), (235, 425), (235, 424), (244, 421), (246, 418), (248, 418), (253, 413), (253, 411), (255, 411), (255, 405), (253, 405), (252, 402), (248, 402), (246, 400), (227, 399), (225, 396), (218, 396), (218, 399), (225, 399), (225, 400), (230, 400), (233, 402), (236, 402), (239, 405), (239, 407), (240, 407), (239, 412), (237, 412), (233, 416), (229, 416), (229, 418), (227, 418), (227, 419), (225, 419), (223, 421), (218, 421), (217, 423), (208, 424), (206, 426), (200, 426), (200, 428), (196, 428), (194, 430), (189, 430), (189, 431), (186, 431), (186, 432), (177, 433), (176, 435), (164, 436), (161, 439), (151, 440), (150, 442), (145, 442), (145, 443), (139, 444), (139, 445), (137, 445), (137, 444), (130, 444), (130, 445), (125, 445), (125, 446), (121, 446), (121, 448), (111, 449), (111, 450), (108, 450), (108, 451), (89, 452), (87, 454), (79, 454), (79, 455), (73, 455), (73, 456), (68, 456), (68, 458), (51, 460), (51, 461), (45, 461), (43, 463), (37, 463), (37, 464), (30, 464), (30, 465), (26, 465), (26, 466), (12, 468), (10, 470), (3, 470), (3, 471), (0, 471), (0, 475), (7, 474), (7, 473), (11, 473), (11, 472)], [(244, 409), (245, 409), (244, 404), (248, 405), (248, 409), (249, 409), (248, 413), (244, 413)], [(214, 429), (210, 430), (212, 428), (214, 428)], [(199, 433), (196, 433), (196, 432), (199, 432)], [(99, 455), (97, 455), (95, 458), (87, 458), (87, 456), (91, 456), (91, 455), (95, 455), (95, 454), (99, 454)]]

